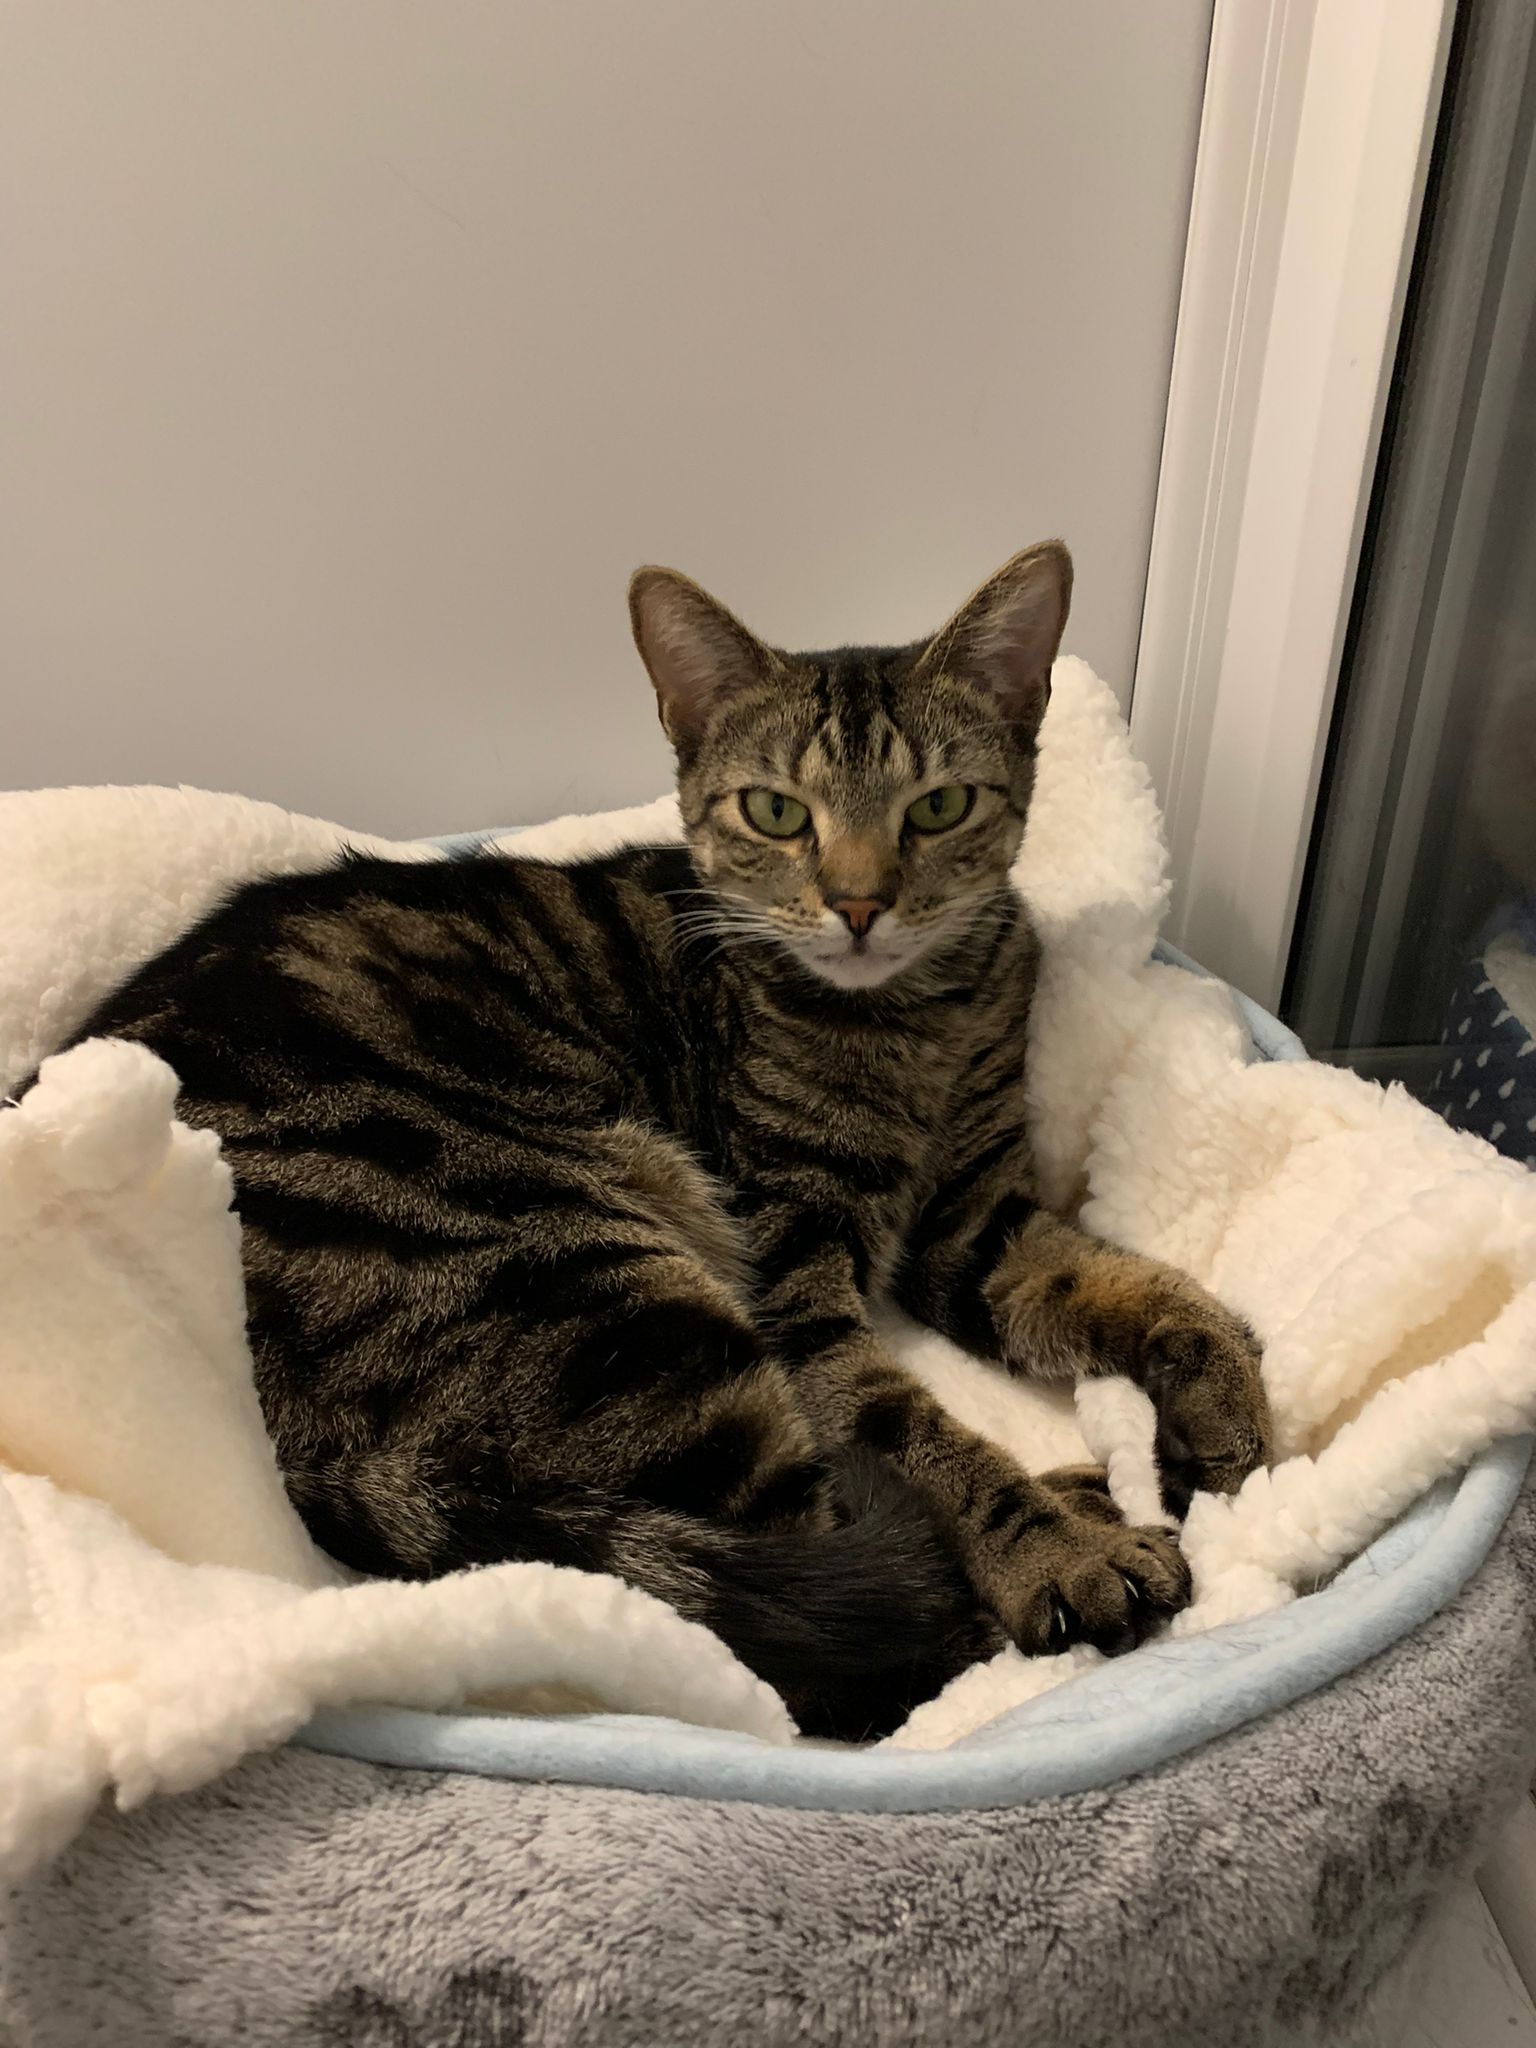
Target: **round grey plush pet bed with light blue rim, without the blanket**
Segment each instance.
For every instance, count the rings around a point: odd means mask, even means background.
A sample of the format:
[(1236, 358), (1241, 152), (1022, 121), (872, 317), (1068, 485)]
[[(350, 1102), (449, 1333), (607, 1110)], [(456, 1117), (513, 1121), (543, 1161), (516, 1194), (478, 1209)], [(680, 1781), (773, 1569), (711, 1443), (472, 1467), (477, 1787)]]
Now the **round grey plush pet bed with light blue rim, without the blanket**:
[[(1253, 1057), (1300, 1057), (1243, 1014)], [(1530, 1778), (1528, 1448), (1495, 1446), (1290, 1608), (1149, 1645), (938, 1753), (614, 1714), (322, 1716), (201, 1792), (100, 1812), (20, 1886), (0, 2038), (1393, 2038), (1415, 1931)]]

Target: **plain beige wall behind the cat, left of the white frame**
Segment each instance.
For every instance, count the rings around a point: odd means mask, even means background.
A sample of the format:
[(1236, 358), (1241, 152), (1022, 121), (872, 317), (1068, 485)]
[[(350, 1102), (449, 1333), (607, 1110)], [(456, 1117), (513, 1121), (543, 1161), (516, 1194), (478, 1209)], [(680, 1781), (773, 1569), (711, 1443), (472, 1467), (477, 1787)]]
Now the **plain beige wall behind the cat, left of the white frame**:
[(666, 780), (1047, 532), (1128, 682), (1210, 0), (0, 0), (0, 780), (385, 831)]

